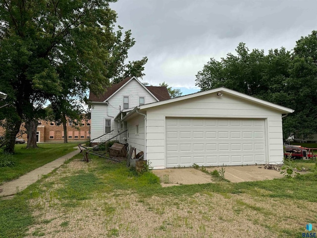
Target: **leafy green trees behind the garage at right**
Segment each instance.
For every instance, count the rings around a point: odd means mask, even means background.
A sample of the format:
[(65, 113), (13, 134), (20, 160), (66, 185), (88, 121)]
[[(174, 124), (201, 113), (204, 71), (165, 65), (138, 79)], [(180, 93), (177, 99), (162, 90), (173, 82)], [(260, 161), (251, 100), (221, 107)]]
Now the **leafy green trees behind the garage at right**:
[(317, 32), (297, 41), (291, 54), (285, 48), (251, 52), (244, 43), (236, 55), (211, 60), (196, 75), (202, 91), (227, 87), (269, 102), (293, 108), (283, 119), (284, 138), (291, 133), (317, 133)]

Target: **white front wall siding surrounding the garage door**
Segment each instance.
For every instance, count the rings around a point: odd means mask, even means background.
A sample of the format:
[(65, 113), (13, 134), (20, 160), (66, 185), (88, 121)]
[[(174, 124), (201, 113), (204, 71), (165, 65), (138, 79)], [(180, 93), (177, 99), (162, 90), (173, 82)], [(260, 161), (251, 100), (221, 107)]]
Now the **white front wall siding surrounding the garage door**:
[(154, 169), (166, 168), (166, 117), (265, 119), (266, 160), (270, 163), (283, 161), (281, 113), (223, 93), (222, 97), (205, 95), (147, 110), (147, 159), (152, 162)]

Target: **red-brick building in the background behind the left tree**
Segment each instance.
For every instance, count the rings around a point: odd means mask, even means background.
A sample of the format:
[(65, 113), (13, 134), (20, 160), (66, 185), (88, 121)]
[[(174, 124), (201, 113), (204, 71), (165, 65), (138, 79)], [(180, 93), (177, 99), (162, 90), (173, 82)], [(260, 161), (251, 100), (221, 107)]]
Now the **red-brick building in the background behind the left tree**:
[[(67, 126), (67, 140), (72, 141), (86, 141), (90, 139), (90, 119), (82, 120), (81, 125), (72, 122), (66, 124)], [(20, 131), (25, 131), (22, 124)], [(3, 128), (0, 128), (0, 135), (4, 135)], [(40, 120), (36, 132), (37, 142), (63, 142), (64, 141), (63, 125), (56, 125), (53, 121)], [(27, 141), (26, 133), (19, 136)]]

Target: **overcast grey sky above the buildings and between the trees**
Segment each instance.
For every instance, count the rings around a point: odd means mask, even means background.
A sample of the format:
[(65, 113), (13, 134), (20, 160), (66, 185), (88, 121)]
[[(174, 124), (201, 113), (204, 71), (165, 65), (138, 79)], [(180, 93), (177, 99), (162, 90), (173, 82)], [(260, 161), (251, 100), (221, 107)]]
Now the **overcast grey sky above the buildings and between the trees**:
[(240, 42), (265, 53), (292, 50), (317, 30), (317, 0), (118, 0), (110, 7), (136, 40), (129, 60), (149, 58), (143, 80), (184, 94), (195, 91), (195, 75), (210, 58), (234, 53)]

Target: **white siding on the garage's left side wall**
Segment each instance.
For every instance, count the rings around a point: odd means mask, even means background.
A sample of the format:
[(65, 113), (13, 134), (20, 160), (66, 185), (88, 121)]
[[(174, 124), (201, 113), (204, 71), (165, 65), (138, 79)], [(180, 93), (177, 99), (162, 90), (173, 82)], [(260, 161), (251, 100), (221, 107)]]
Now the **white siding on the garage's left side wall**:
[[(135, 133), (136, 125), (139, 125), (139, 134)], [(127, 126), (129, 128), (129, 136), (127, 138), (129, 148), (135, 147), (137, 149), (137, 153), (140, 151), (144, 152), (144, 116), (138, 115), (130, 119)]]

